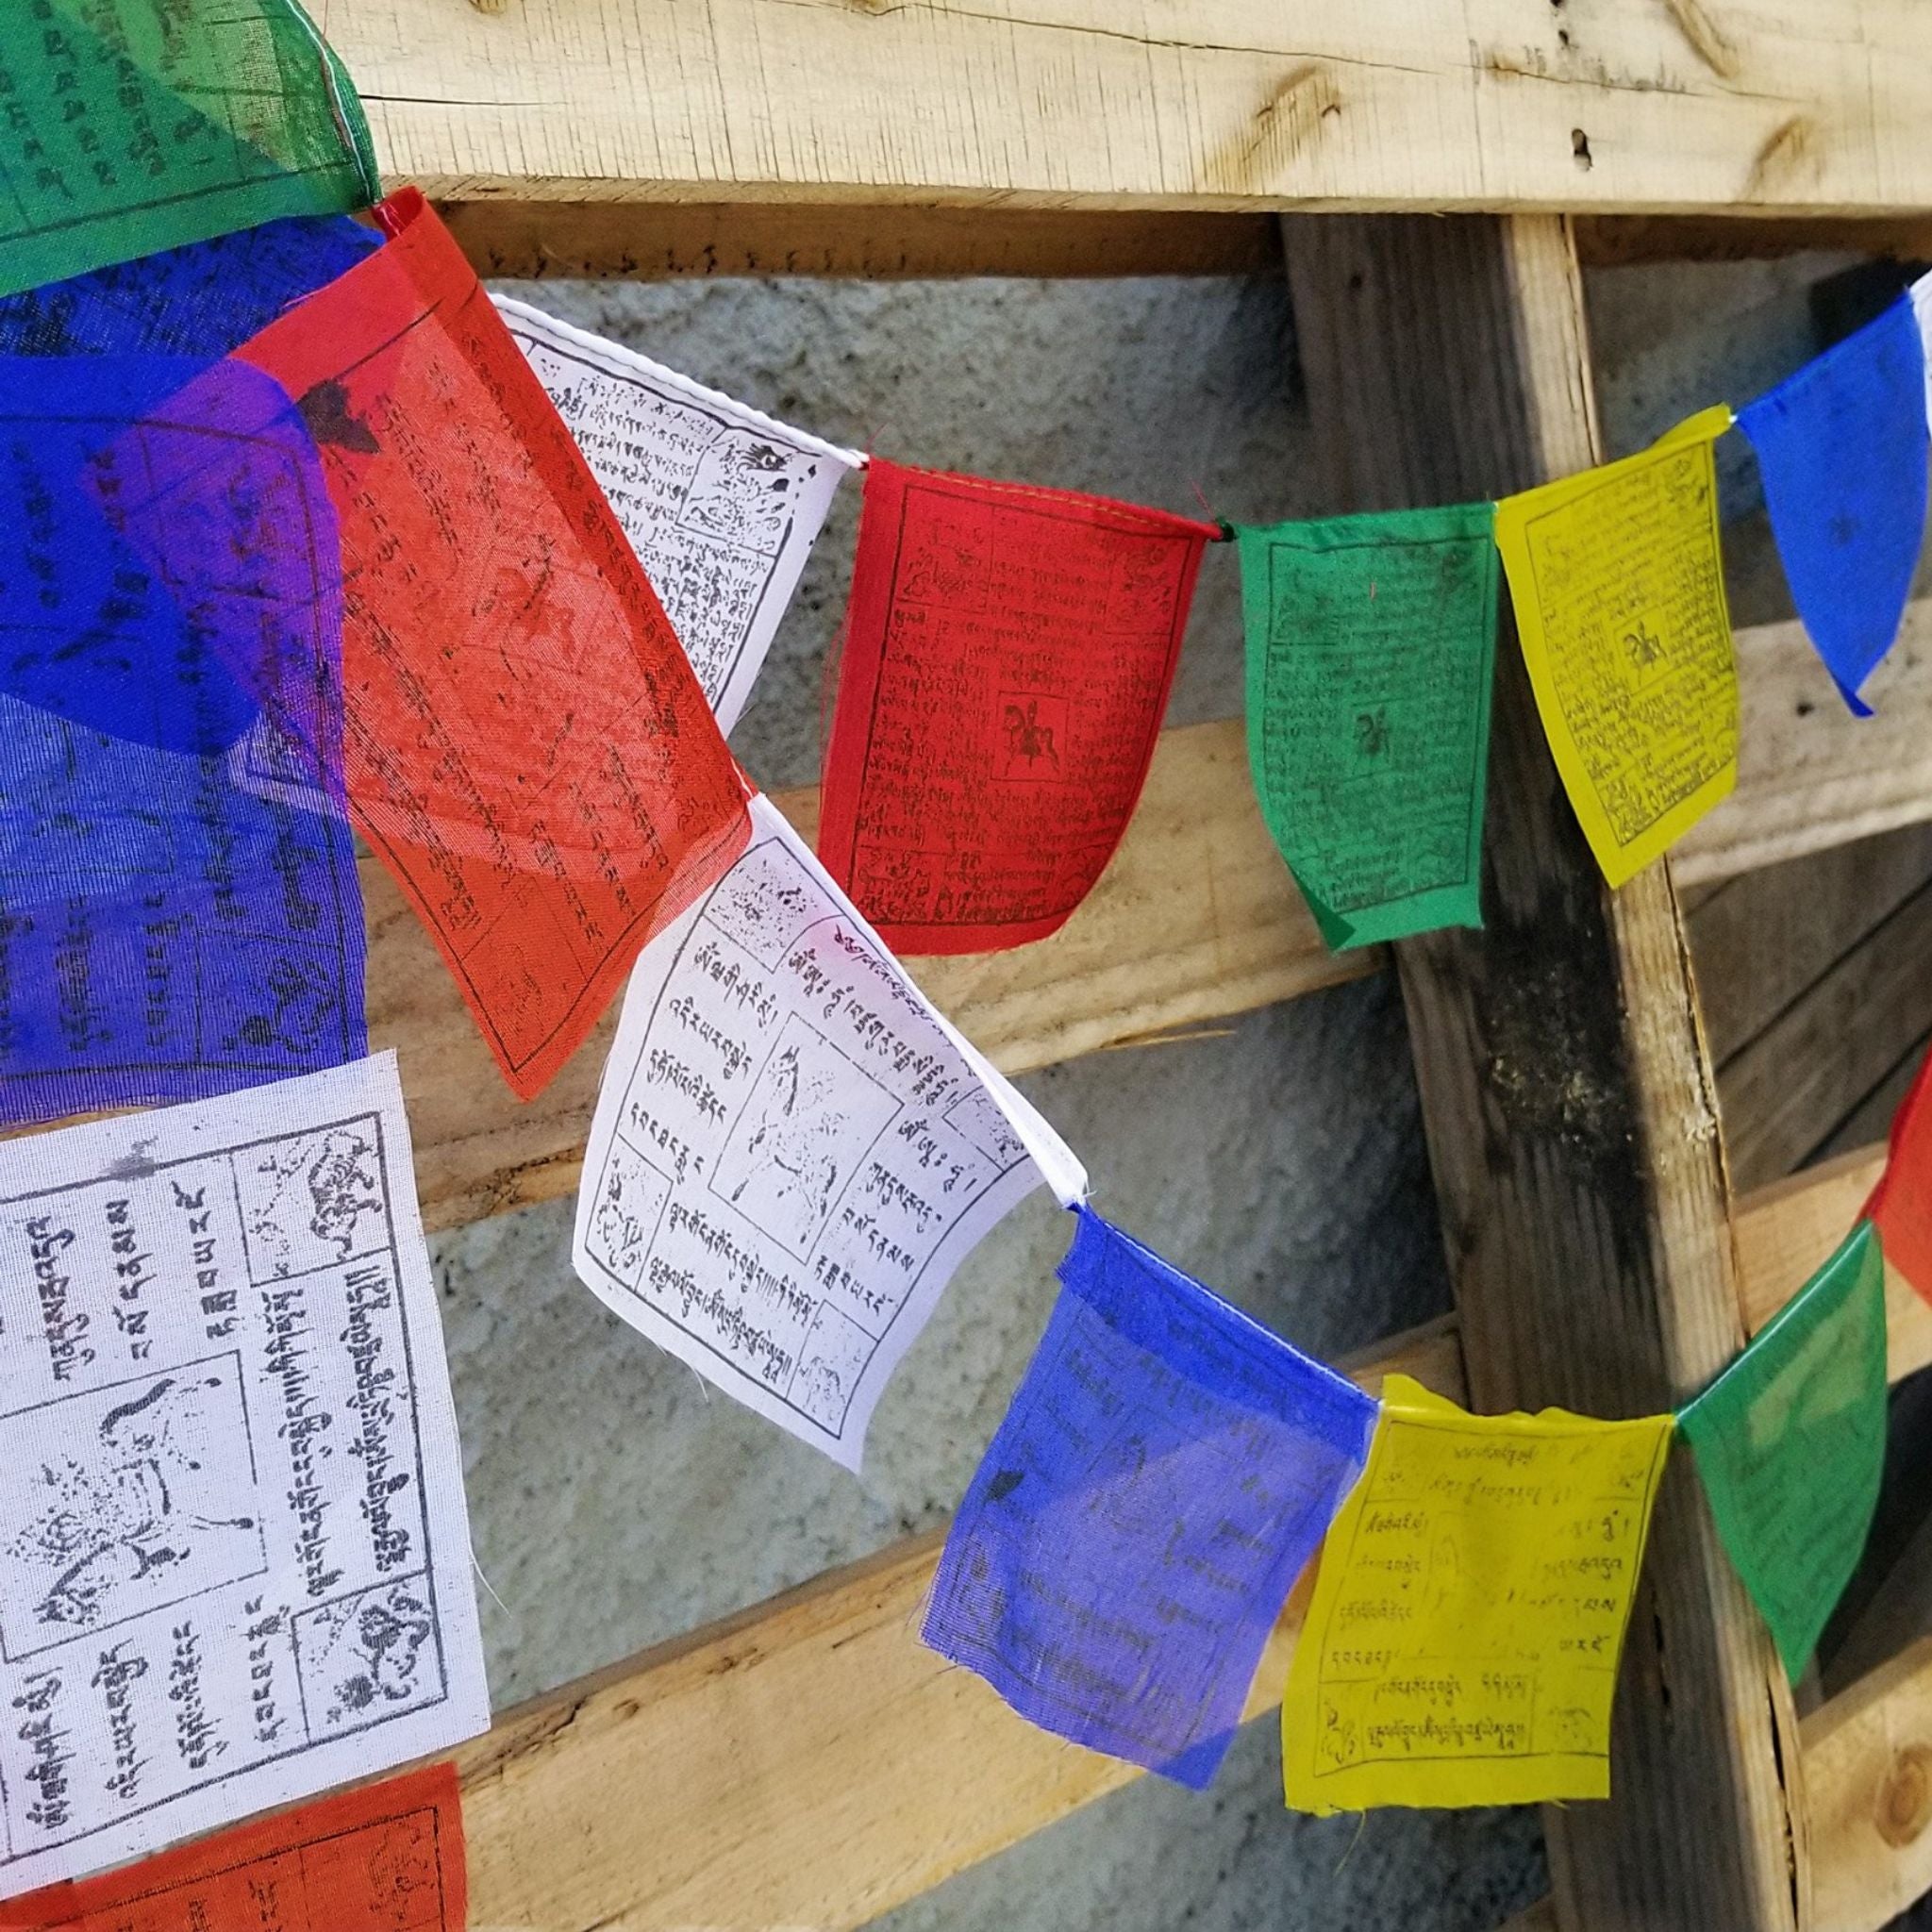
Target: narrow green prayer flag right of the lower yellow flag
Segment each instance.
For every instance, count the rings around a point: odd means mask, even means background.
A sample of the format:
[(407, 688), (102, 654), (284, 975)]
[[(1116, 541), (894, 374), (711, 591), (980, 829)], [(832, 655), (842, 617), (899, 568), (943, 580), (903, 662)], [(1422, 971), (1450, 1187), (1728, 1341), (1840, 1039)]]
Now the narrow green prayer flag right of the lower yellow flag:
[(1870, 1221), (1677, 1428), (1795, 1683), (1859, 1565), (1886, 1463), (1886, 1260)]

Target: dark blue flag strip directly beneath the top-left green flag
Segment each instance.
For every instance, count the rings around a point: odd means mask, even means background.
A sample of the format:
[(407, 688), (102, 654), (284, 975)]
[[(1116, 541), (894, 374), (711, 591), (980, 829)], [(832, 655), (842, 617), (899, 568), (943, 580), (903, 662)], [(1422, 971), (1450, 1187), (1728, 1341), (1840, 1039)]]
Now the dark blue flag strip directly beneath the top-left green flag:
[(379, 240), (346, 214), (292, 214), (0, 296), (0, 355), (213, 361), (346, 274)]

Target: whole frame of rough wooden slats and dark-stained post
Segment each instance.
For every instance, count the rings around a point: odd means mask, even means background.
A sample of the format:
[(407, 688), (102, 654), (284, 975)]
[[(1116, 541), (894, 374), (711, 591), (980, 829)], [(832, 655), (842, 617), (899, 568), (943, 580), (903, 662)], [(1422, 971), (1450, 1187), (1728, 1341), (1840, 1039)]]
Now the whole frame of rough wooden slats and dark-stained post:
[[(1932, 253), (1932, 17), (1913, 0), (311, 4), (384, 174), (442, 199), (487, 274), (1285, 261), (1337, 510), (1598, 458), (1578, 257)], [(1412, 218), (1443, 213), (1463, 218)], [(1739, 657), (1737, 798), (1623, 895), (1582, 852), (1505, 649), (1490, 939), (1327, 954), (1223, 723), (1163, 736), (1061, 935), (914, 972), (1018, 1070), (1393, 964), (1461, 1314), (1356, 1374), (1654, 1410), (1803, 1285), (1880, 1165), (1862, 1150), (1731, 1204), (1673, 881), (1932, 819), (1932, 607), (1868, 724), (1814, 703), (1797, 626), (1743, 632)], [(779, 802), (810, 837), (815, 794)], [(400, 1049), (429, 1225), (570, 1190), (607, 1037), (516, 1105), (394, 887), (365, 866), (363, 889), (371, 1032)], [(1511, 1032), (1530, 985), (1592, 1026)], [(1578, 1086), (1588, 1119), (1561, 1099)], [(1899, 1379), (1932, 1362), (1932, 1310), (1897, 1281), (1889, 1304)], [(858, 1926), (1138, 1776), (918, 1644), (935, 1551), (916, 1538), (502, 1716), (460, 1754), (471, 1924)], [(1932, 1888), (1932, 1640), (1799, 1723), (1689, 1480), (1644, 1592), (1617, 1797), (1551, 1816), (1532, 1920), (1866, 1932)]]

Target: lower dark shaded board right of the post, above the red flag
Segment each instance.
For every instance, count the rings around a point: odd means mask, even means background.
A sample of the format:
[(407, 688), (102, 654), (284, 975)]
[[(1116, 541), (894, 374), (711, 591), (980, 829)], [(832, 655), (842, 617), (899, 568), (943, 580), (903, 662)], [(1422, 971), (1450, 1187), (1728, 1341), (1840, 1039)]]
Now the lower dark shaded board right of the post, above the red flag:
[(1718, 1092), (1731, 1177), (1741, 1188), (1789, 1175), (1932, 1028), (1928, 958), (1932, 885), (1731, 1059)]

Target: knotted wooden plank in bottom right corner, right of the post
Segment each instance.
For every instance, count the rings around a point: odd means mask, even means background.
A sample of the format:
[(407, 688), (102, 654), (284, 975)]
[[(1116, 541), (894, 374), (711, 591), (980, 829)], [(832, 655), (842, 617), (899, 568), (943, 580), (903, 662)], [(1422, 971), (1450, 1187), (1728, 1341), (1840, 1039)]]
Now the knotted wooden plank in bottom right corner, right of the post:
[(1812, 1913), (1878, 1932), (1932, 1889), (1932, 1636), (1804, 1719)]

